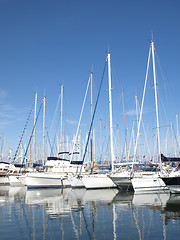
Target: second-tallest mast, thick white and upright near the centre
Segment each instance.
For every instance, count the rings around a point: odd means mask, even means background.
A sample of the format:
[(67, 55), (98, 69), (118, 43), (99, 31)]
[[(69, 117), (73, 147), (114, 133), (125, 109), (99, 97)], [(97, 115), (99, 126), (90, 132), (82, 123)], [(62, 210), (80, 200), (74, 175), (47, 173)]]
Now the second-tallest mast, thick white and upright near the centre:
[(113, 122), (112, 122), (112, 87), (111, 87), (111, 59), (108, 53), (108, 78), (109, 78), (109, 120), (110, 120), (110, 144), (111, 144), (111, 164), (114, 171), (114, 148), (113, 148)]

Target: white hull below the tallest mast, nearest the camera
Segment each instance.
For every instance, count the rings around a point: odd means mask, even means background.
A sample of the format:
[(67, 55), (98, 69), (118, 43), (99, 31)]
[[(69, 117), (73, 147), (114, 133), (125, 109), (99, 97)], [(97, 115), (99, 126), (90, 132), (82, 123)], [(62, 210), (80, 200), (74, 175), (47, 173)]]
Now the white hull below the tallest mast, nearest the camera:
[(163, 180), (156, 176), (131, 179), (135, 193), (169, 191)]

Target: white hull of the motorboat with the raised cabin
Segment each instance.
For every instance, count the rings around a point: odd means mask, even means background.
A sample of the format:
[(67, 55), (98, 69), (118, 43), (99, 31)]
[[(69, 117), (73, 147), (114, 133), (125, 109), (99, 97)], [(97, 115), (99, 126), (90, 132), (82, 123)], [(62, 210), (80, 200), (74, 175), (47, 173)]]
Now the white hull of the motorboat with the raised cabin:
[(25, 179), (28, 188), (61, 188), (63, 183), (67, 184), (65, 176), (57, 173), (27, 173)]

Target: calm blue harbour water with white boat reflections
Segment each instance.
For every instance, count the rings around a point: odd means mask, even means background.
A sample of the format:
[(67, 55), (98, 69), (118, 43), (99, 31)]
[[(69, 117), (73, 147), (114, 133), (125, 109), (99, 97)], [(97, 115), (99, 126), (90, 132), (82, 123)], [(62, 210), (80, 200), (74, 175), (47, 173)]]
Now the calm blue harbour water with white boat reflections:
[(0, 239), (180, 239), (180, 195), (1, 186)]

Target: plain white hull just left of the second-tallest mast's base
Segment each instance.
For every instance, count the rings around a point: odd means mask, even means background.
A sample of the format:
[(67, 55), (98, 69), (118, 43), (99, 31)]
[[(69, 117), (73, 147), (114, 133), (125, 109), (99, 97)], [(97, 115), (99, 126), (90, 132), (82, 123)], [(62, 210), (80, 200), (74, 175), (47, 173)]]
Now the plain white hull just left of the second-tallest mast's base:
[(82, 177), (86, 189), (115, 188), (116, 185), (106, 174), (90, 174)]

